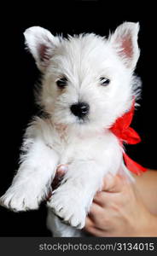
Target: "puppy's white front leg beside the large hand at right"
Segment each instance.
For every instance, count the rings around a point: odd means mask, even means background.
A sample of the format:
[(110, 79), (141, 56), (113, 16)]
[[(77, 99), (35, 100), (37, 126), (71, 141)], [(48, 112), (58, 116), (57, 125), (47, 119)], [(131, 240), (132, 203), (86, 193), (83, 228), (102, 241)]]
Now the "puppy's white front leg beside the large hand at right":
[(101, 188), (104, 169), (94, 161), (71, 164), (61, 186), (49, 199), (48, 207), (66, 223), (82, 229), (93, 197)]

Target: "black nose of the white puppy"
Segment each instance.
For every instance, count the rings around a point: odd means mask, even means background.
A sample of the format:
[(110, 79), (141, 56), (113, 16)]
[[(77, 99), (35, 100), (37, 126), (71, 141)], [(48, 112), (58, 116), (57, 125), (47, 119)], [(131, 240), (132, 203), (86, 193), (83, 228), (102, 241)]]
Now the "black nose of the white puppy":
[(76, 116), (78, 116), (78, 118), (84, 118), (84, 116), (89, 113), (89, 109), (90, 106), (89, 104), (85, 103), (85, 102), (78, 102), (73, 104), (70, 107), (70, 110), (72, 111), (72, 113)]

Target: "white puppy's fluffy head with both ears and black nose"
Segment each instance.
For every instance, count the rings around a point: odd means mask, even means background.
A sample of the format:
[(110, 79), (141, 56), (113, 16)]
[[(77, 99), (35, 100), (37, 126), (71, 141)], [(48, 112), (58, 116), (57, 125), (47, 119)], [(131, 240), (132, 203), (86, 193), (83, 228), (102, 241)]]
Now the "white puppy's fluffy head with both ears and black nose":
[(108, 38), (61, 38), (39, 26), (26, 30), (27, 48), (44, 74), (40, 103), (56, 124), (108, 128), (131, 107), (139, 57), (138, 23)]

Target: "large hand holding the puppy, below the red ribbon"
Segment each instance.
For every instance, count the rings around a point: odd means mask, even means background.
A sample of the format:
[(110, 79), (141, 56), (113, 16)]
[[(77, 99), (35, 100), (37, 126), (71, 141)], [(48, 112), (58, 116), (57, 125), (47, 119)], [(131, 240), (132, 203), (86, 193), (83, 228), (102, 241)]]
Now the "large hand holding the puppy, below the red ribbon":
[(126, 177), (108, 174), (94, 198), (84, 230), (93, 236), (156, 236), (157, 218)]

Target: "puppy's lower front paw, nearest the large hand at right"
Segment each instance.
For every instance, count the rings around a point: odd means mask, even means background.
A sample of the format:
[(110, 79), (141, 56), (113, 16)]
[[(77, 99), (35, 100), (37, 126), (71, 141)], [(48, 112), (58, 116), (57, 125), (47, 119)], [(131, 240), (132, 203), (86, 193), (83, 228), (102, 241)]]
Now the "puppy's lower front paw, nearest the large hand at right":
[[(73, 194), (72, 194), (73, 195)], [(82, 204), (74, 196), (63, 195), (57, 189), (49, 199), (47, 205), (62, 220), (71, 226), (82, 229), (85, 224), (86, 212)]]

